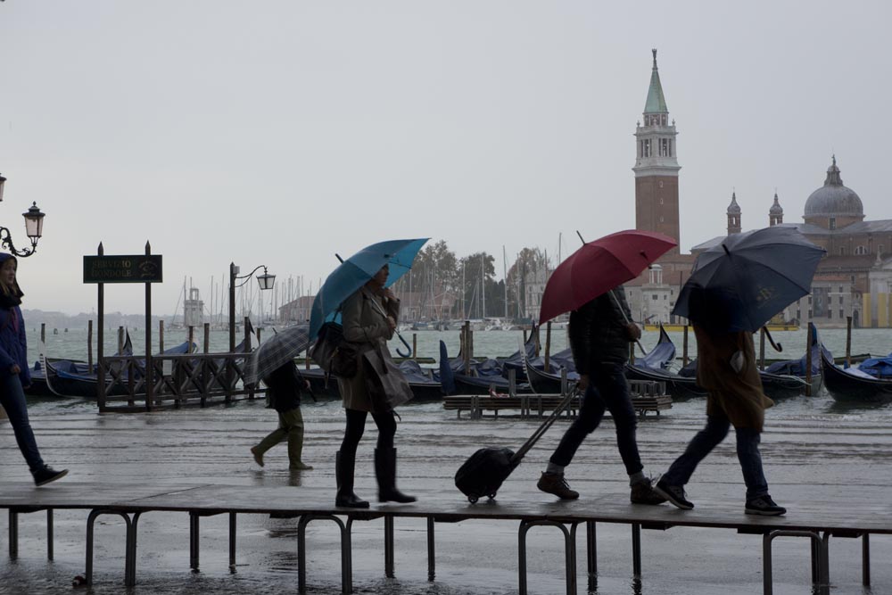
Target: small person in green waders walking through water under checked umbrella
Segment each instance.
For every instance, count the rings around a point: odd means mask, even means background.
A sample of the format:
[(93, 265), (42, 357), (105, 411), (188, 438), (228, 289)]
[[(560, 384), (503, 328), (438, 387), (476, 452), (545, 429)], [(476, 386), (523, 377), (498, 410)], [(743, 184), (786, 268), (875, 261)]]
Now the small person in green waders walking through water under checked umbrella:
[(260, 444), (252, 447), (251, 454), (254, 456), (254, 461), (263, 467), (263, 454), (287, 438), (288, 469), (291, 471), (312, 469), (313, 467), (301, 460), (303, 453), (301, 389), (309, 388), (310, 384), (301, 376), (293, 359), (264, 378), (263, 384), (267, 385), (272, 407), (278, 412), (279, 425), (261, 440)]

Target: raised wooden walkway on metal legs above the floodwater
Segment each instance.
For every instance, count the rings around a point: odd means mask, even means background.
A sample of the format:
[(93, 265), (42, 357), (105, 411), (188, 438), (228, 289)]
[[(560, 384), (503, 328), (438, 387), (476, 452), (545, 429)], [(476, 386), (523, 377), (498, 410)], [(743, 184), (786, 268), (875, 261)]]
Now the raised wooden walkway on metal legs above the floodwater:
[[(300, 492), (300, 498), (294, 493)], [(136, 540), (139, 517), (148, 512), (185, 512), (190, 518), (190, 566), (199, 565), (199, 520), (202, 516), (229, 515), (229, 564), (235, 566), (236, 516), (261, 514), (299, 517), (298, 589), (306, 591), (306, 527), (311, 521), (335, 522), (341, 531), (342, 591), (352, 592), (351, 526), (357, 521), (384, 519), (384, 574), (392, 577), (395, 563), (393, 523), (397, 518), (427, 521), (428, 580), (434, 580), (436, 523), (472, 520), (519, 522), (518, 591), (526, 593), (526, 533), (533, 526), (557, 527), (564, 534), (566, 549), (566, 592), (576, 593), (576, 530), (586, 528), (586, 560), (590, 588), (596, 580), (598, 523), (630, 525), (632, 565), (641, 574), (641, 529), (665, 531), (673, 526), (735, 529), (763, 537), (764, 593), (772, 593), (772, 541), (778, 537), (806, 537), (811, 541), (812, 580), (816, 591), (830, 593), (830, 537), (860, 537), (863, 541), (863, 584), (870, 584), (871, 533), (892, 534), (892, 502), (847, 503), (845, 514), (826, 503), (797, 503), (787, 516), (748, 516), (739, 504), (700, 505), (693, 510), (671, 506), (641, 506), (624, 503), (616, 494), (574, 501), (504, 502), (490, 500), (471, 505), (460, 492), (421, 492), (408, 505), (378, 505), (367, 509), (335, 508), (334, 494), (327, 488), (234, 486), (211, 483), (178, 485), (63, 482), (44, 488), (26, 483), (0, 483), (0, 508), (9, 510), (9, 554), (18, 556), (19, 516), (45, 511), (47, 557), (53, 558), (54, 509), (82, 509), (87, 513), (87, 583), (93, 580), (94, 525), (99, 516), (122, 517), (126, 526), (124, 582), (136, 584)], [(513, 498), (512, 500), (520, 500)], [(283, 504), (287, 502), (287, 504)], [(879, 591), (878, 591), (879, 592)]]

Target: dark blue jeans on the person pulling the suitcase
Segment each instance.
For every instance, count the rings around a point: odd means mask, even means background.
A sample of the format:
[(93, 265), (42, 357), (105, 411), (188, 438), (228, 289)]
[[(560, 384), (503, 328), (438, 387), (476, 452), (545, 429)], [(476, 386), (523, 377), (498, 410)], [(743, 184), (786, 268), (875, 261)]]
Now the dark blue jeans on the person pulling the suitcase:
[(591, 371), (589, 386), (582, 395), (579, 417), (566, 429), (550, 461), (561, 467), (569, 465), (585, 436), (600, 425), (605, 409), (609, 409), (614, 418), (616, 446), (619, 447), (626, 473), (634, 475), (643, 469), (638, 442), (635, 441), (638, 419), (629, 397), (624, 365), (612, 363), (599, 364)]

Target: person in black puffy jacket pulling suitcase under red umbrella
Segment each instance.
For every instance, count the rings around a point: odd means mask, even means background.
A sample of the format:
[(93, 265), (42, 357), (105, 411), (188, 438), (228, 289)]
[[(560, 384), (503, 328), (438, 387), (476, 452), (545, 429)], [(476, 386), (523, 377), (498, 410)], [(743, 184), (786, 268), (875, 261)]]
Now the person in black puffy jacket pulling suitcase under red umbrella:
[(650, 479), (642, 471), (644, 466), (635, 440), (637, 420), (624, 367), (629, 358), (629, 343), (640, 338), (641, 331), (631, 319), (622, 285), (570, 313), (570, 349), (579, 373), (579, 389), (583, 392), (582, 407), (539, 479), (542, 492), (562, 500), (579, 498), (579, 492), (571, 490), (564, 478), (564, 467), (570, 464), (585, 436), (599, 426), (605, 409), (609, 409), (616, 425), (616, 445), (629, 474), (632, 502), (665, 502), (665, 498), (653, 491)]

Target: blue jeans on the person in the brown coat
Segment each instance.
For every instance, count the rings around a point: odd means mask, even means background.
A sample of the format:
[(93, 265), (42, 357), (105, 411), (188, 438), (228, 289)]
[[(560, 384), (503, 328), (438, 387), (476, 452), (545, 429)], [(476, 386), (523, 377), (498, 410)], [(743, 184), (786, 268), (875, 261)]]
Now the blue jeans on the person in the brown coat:
[[(719, 442), (724, 440), (731, 428), (731, 422), (724, 416), (707, 416), (706, 427), (700, 430), (688, 444), (684, 454), (669, 467), (661, 481), (669, 485), (685, 485), (694, 475), (699, 462), (706, 459)], [(747, 500), (768, 493), (768, 482), (762, 470), (762, 455), (759, 453), (760, 434), (751, 427), (735, 428), (737, 434), (737, 458), (743, 471), (743, 481), (747, 484)]]

